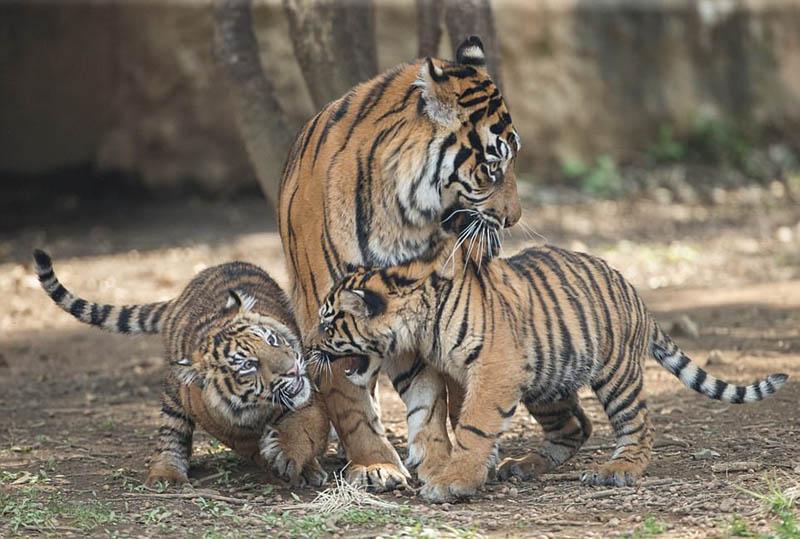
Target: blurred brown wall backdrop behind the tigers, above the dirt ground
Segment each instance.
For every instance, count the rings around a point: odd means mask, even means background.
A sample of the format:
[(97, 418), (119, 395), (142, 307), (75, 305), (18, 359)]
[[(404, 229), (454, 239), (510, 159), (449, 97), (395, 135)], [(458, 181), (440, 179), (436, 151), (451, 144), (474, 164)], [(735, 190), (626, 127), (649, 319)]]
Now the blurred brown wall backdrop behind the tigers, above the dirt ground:
[[(522, 134), (523, 181), (593, 197), (712, 197), (776, 181), (797, 192), (798, 0), (254, 4), (276, 155), (358, 81), (450, 57), (453, 42), (478, 33)], [(254, 193), (213, 7), (0, 4), (4, 206), (44, 194)]]

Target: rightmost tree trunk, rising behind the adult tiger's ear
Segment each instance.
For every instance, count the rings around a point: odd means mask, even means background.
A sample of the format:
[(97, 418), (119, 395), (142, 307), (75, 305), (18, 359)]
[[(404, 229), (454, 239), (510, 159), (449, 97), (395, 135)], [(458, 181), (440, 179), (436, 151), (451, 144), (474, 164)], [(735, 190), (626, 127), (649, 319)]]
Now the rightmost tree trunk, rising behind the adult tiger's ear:
[(476, 35), (483, 41), (486, 49), (486, 63), (489, 74), (498, 88), (502, 88), (502, 65), (500, 62), (500, 41), (494, 28), (494, 16), (489, 0), (444, 0), (445, 24), (453, 58), (464, 38)]

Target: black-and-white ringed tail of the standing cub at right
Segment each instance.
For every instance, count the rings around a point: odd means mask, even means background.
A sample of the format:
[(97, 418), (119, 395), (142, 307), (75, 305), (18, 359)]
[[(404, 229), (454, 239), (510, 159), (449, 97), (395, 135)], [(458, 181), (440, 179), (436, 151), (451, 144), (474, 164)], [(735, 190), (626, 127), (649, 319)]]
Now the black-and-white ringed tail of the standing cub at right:
[(772, 395), (786, 383), (786, 374), (770, 374), (765, 379), (750, 384), (737, 386), (715, 378), (692, 363), (692, 360), (677, 344), (664, 333), (658, 324), (653, 322), (653, 335), (650, 341), (650, 353), (659, 364), (680, 378), (683, 384), (710, 399), (733, 404), (757, 402)]

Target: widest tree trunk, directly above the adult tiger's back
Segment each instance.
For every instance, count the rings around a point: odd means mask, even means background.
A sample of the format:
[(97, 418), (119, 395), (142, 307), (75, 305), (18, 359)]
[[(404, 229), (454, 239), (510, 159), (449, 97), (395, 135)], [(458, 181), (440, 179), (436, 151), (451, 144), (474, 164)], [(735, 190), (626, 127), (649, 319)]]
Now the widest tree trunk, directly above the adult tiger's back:
[(322, 108), (378, 72), (372, 0), (284, 0), (294, 54)]

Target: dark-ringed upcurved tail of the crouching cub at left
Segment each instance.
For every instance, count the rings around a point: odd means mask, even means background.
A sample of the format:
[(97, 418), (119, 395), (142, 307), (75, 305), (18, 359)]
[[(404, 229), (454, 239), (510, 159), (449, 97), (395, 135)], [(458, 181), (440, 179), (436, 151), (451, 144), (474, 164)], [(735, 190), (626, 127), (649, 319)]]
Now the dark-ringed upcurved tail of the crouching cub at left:
[(64, 288), (53, 272), (50, 255), (40, 249), (33, 251), (34, 267), (42, 288), (63, 310), (86, 324), (113, 333), (159, 333), (164, 311), (170, 302), (143, 305), (102, 305), (73, 295)]

